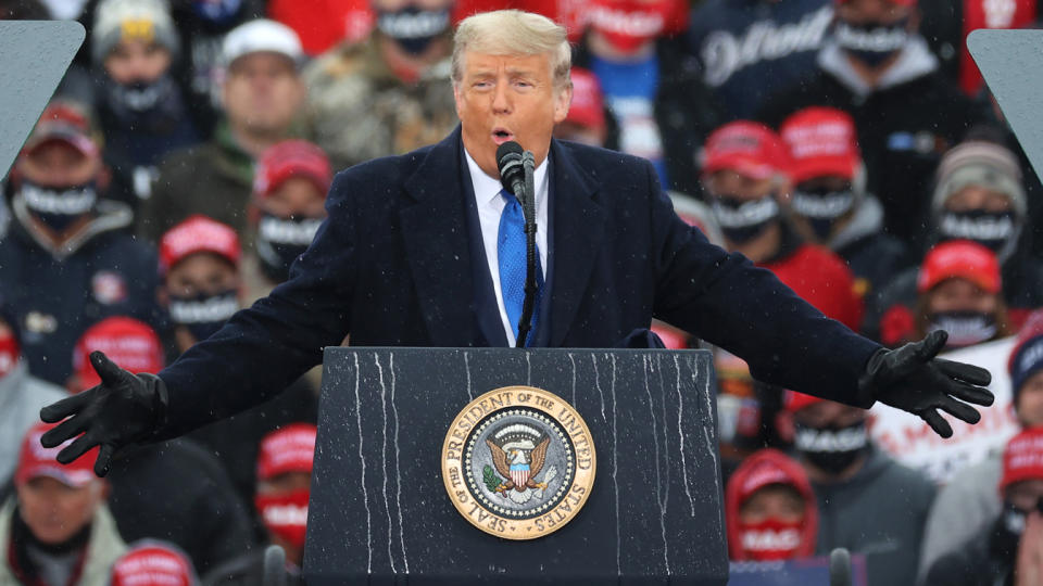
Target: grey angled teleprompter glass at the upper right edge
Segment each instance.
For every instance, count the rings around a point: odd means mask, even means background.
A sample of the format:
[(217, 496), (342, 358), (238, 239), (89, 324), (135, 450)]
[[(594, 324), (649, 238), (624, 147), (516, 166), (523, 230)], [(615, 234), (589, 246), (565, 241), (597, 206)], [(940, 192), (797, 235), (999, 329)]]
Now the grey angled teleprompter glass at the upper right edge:
[(1043, 30), (975, 30), (967, 49), (1032, 168), (1043, 177)]

